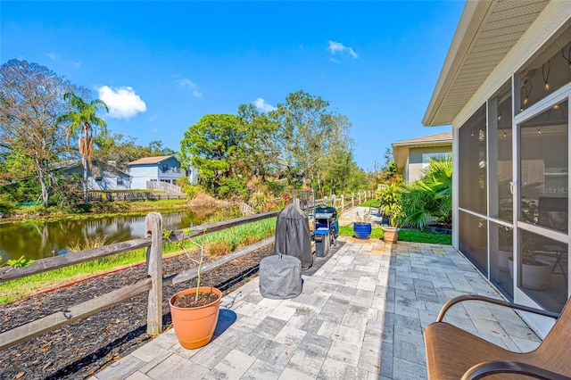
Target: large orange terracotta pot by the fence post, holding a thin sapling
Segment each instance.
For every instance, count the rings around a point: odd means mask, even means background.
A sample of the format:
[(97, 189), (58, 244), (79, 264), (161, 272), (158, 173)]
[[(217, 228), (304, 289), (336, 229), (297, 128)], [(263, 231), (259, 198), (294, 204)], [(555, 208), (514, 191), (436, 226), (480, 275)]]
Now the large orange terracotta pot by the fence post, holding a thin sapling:
[(181, 295), (195, 294), (196, 288), (193, 287), (176, 293), (169, 301), (172, 326), (175, 329), (178, 343), (189, 350), (203, 347), (209, 343), (218, 322), (222, 293), (219, 289), (210, 286), (201, 286), (200, 292), (216, 293), (218, 299), (197, 308), (178, 308), (173, 305)]

